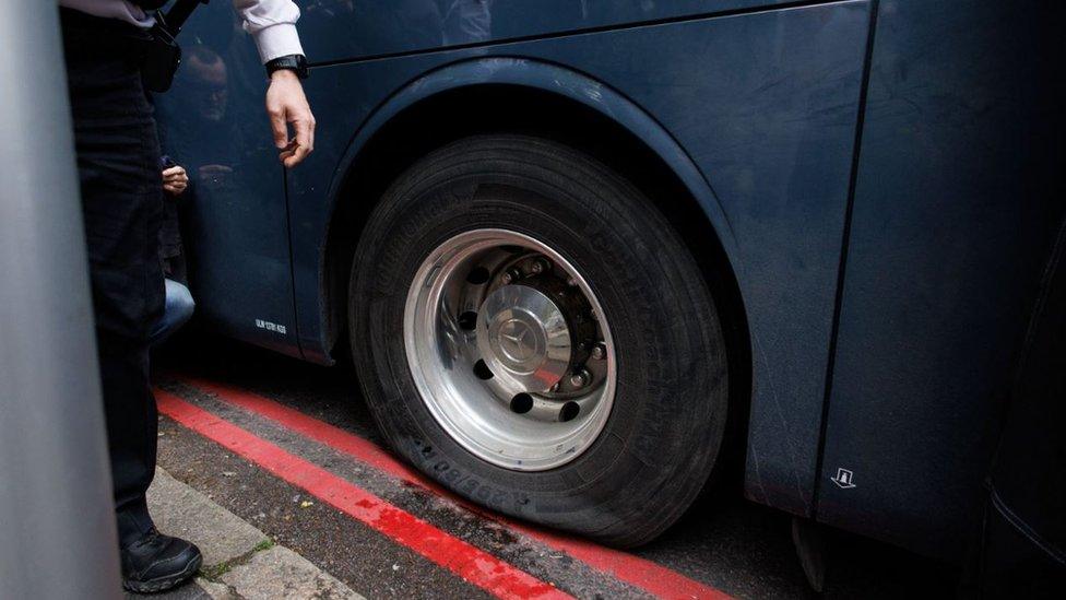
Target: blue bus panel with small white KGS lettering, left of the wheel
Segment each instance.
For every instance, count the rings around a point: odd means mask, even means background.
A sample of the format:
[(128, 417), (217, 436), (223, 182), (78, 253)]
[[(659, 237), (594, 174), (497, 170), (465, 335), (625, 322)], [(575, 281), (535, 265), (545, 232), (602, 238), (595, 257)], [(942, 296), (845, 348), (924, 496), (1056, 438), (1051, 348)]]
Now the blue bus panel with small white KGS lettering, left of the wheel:
[(300, 356), (285, 172), (266, 126), (265, 73), (235, 22), (229, 2), (212, 2), (182, 32), (174, 86), (155, 96), (161, 143), (189, 174), (177, 201), (198, 318)]

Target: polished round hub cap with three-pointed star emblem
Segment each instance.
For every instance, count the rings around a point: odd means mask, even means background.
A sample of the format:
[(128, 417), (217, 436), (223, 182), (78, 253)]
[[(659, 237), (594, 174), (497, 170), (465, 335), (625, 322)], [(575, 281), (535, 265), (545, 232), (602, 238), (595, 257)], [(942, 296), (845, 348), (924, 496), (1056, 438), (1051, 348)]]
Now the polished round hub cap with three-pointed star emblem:
[(530, 391), (547, 391), (570, 365), (570, 330), (562, 310), (529, 285), (505, 285), (485, 299), (477, 348), (493, 373)]

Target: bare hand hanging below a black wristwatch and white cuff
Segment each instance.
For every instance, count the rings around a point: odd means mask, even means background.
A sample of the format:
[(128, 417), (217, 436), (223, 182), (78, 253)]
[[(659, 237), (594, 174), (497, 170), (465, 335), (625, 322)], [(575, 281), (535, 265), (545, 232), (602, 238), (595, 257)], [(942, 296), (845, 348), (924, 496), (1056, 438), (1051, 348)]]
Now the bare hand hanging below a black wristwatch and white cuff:
[[(266, 115), (274, 132), (274, 145), (281, 150), (279, 160), (286, 167), (301, 163), (315, 150), (315, 115), (311, 115), (304, 86), (293, 71), (281, 69), (271, 74)], [(288, 123), (296, 131), (295, 138), (288, 137)]]

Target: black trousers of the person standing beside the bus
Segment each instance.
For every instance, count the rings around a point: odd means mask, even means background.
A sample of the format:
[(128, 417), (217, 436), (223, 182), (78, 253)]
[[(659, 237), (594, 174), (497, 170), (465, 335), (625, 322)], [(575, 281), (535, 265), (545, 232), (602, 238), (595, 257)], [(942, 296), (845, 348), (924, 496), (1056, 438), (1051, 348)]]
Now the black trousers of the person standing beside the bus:
[(147, 340), (164, 302), (159, 142), (141, 84), (138, 31), (67, 10), (62, 22), (115, 507), (126, 545), (152, 527), (144, 493), (157, 444)]

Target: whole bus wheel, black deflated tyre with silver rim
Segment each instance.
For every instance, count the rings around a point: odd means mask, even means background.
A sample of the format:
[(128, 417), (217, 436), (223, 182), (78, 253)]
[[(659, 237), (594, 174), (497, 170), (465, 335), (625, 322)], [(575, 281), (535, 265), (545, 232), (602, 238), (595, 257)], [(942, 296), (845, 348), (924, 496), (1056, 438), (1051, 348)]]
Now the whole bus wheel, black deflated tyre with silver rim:
[(393, 448), (458, 494), (615, 545), (713, 467), (726, 356), (654, 204), (572, 149), (474, 137), (421, 160), (359, 240), (348, 322)]

